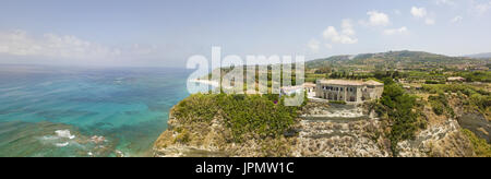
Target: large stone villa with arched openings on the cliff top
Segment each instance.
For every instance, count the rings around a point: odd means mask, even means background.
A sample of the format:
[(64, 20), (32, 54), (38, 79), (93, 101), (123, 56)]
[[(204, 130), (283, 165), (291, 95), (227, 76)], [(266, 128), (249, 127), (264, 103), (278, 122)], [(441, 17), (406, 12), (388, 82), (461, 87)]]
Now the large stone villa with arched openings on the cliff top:
[(327, 100), (343, 100), (361, 104), (382, 96), (384, 84), (375, 81), (319, 80), (316, 97)]

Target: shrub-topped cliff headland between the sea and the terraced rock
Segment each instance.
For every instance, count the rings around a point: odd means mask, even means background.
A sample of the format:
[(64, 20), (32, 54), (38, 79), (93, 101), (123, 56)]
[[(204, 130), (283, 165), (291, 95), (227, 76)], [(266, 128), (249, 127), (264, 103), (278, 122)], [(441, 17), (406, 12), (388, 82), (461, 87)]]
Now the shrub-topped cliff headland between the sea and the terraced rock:
[(193, 95), (176, 105), (155, 156), (290, 156), (296, 108), (266, 96)]

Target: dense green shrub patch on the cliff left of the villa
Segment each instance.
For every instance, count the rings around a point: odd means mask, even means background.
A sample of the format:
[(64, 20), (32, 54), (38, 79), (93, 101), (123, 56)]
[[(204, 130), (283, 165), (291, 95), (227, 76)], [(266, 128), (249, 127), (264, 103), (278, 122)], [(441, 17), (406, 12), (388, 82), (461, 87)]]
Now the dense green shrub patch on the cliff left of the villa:
[(246, 135), (260, 139), (283, 135), (295, 123), (297, 107), (287, 107), (278, 95), (195, 94), (179, 103), (175, 117), (182, 123), (211, 123), (223, 118), (233, 142)]

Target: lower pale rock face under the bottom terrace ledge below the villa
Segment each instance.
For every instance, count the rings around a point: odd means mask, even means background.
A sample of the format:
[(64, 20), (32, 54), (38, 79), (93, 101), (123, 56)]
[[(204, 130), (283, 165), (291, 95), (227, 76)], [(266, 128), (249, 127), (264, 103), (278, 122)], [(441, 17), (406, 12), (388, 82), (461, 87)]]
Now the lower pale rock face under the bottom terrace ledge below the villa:
[(380, 121), (301, 121), (294, 156), (387, 157)]

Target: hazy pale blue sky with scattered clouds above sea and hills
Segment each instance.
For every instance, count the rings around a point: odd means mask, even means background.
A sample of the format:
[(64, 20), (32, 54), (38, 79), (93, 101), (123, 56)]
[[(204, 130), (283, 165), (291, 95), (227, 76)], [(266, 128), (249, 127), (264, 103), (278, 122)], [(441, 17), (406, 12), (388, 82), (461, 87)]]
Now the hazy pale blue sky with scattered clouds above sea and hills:
[(193, 55), (491, 52), (491, 0), (2, 0), (0, 63), (184, 68)]

